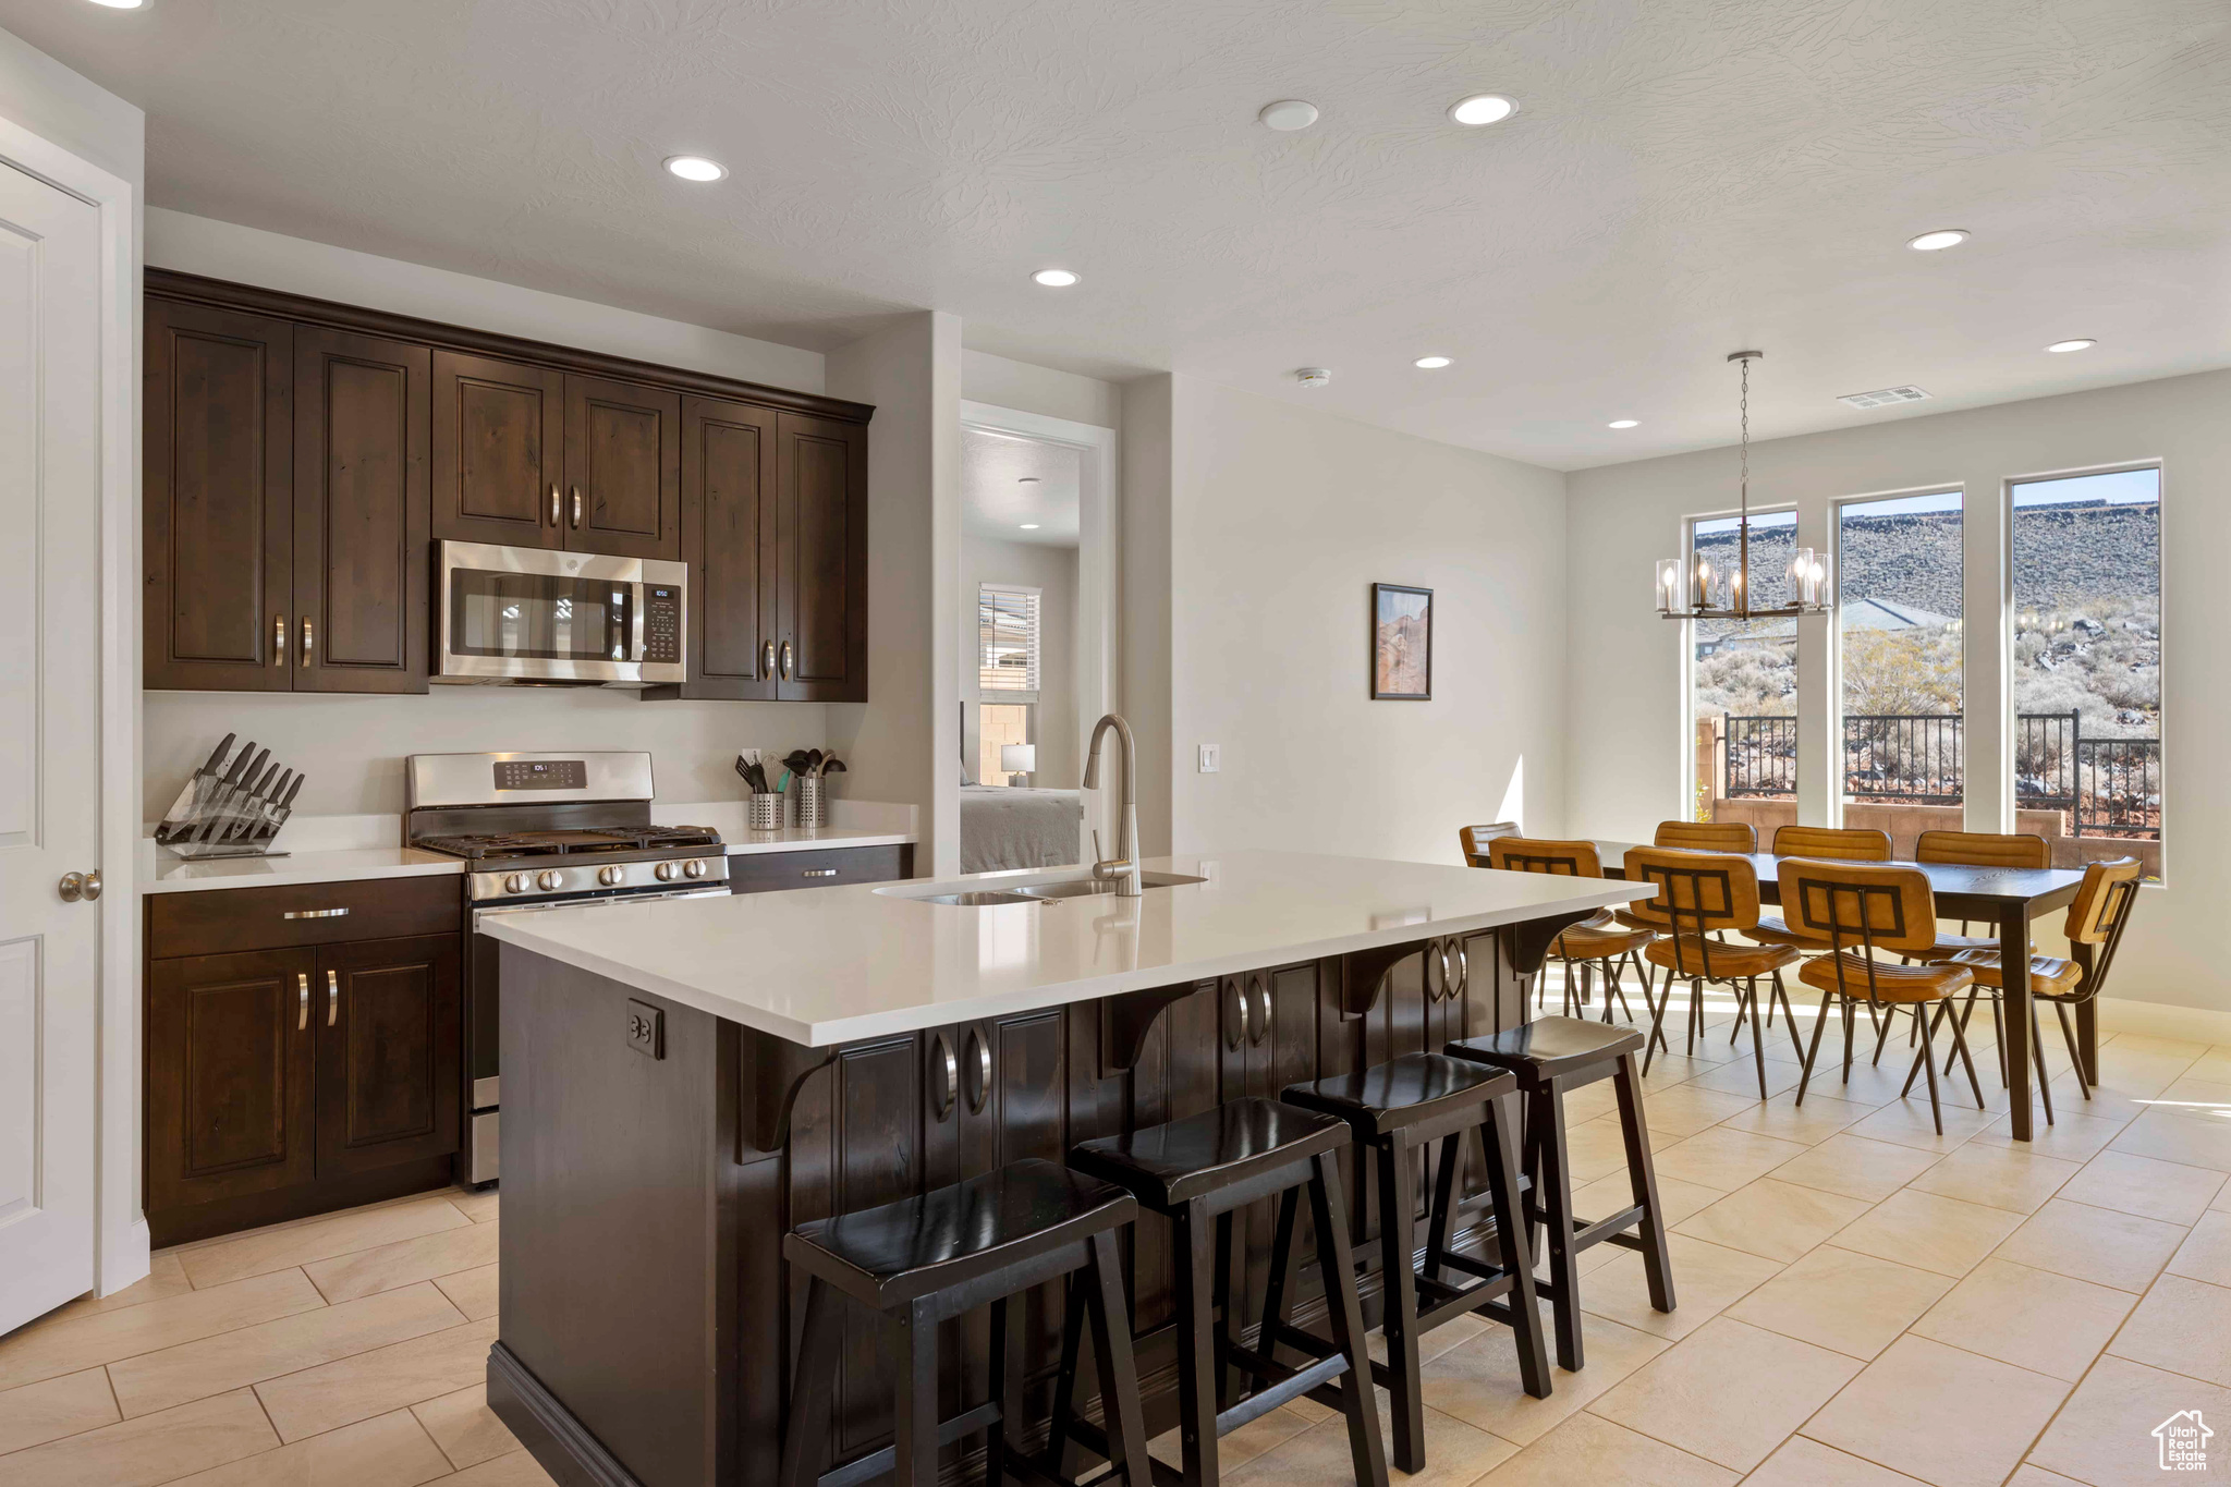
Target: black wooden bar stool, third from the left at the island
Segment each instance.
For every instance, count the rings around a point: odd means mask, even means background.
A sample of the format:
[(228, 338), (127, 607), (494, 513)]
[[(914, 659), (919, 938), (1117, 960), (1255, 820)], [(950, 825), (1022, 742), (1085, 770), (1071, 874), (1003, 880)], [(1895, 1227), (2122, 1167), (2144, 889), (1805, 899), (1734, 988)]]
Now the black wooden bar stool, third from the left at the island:
[[(1290, 1083), (1283, 1095), (1292, 1106), (1341, 1117), (1356, 1146), (1379, 1157), (1379, 1255), (1385, 1277), (1381, 1331), (1388, 1340), (1388, 1360), (1372, 1364), (1372, 1378), (1394, 1396), (1394, 1465), (1403, 1471), (1426, 1469), (1426, 1400), (1419, 1387), (1417, 1344), (1441, 1322), (1472, 1311), (1495, 1318), (1517, 1335), (1526, 1393), (1546, 1400), (1551, 1391), (1542, 1313), (1535, 1311), (1533, 1255), (1526, 1248), (1526, 1222), (1519, 1208), (1524, 1182), (1517, 1159), (1517, 1088), (1515, 1075), (1437, 1052), (1412, 1052), (1374, 1063), (1361, 1075)], [(1457, 1148), (1468, 1130), (1479, 1133), (1479, 1155), (1488, 1168), (1497, 1264), (1459, 1255), (1448, 1246), (1459, 1199)], [(1426, 1264), (1419, 1271), (1417, 1162), (1410, 1153), (1430, 1141), (1441, 1141), (1441, 1162), (1426, 1226)], [(1321, 1338), (1285, 1322), (1294, 1199), (1292, 1190), (1278, 1199), (1278, 1237), (1272, 1242), (1269, 1295), (1263, 1306), (1263, 1353), (1272, 1358), (1281, 1342), (1325, 1351)], [(1441, 1280), (1443, 1269), (1475, 1280), (1452, 1286)]]

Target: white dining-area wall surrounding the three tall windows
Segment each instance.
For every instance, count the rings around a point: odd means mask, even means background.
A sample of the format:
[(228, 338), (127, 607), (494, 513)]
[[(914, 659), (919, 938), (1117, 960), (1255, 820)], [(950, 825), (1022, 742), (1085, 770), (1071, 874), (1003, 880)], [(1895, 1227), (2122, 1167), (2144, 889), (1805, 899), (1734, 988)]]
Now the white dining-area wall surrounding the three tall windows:
[[(2231, 1008), (2222, 905), (2231, 861), (2231, 372), (2202, 372), (1968, 412), (1901, 419), (1751, 446), (1754, 504), (1798, 508), (1798, 540), (1827, 548), (1829, 502), (1881, 490), (1966, 493), (1968, 827), (2010, 829), (2003, 749), (2008, 477), (2162, 461), (2162, 700), (2169, 885), (2148, 890), (2115, 963), (2113, 992)], [(1687, 515), (1733, 502), (1736, 455), (1709, 450), (1568, 477), (1566, 611), (1575, 684), (1566, 820), (1575, 834), (1646, 838), (1680, 814), (1680, 626), (1651, 609), (1651, 564), (1678, 553)], [(1827, 622), (1800, 629), (1800, 816), (1829, 805)], [(2044, 927), (2044, 925), (2039, 925)], [(2041, 936), (2044, 939), (2044, 936)]]

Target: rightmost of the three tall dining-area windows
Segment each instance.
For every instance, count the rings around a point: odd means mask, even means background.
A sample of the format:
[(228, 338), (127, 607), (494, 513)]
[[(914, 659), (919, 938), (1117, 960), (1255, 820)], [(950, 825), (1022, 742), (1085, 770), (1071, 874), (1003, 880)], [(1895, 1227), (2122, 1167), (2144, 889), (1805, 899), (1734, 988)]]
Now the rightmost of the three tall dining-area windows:
[[(2015, 809), (2162, 874), (2162, 473), (2012, 488)], [(2032, 816), (2035, 811), (2035, 816)]]

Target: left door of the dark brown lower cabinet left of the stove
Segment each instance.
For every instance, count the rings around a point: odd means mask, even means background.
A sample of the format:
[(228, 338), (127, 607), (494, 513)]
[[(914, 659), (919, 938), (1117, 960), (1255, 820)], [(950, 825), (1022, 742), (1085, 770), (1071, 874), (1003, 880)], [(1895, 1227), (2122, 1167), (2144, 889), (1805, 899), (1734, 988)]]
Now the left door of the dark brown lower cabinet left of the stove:
[(317, 954), (154, 961), (147, 976), (147, 1206), (310, 1182)]

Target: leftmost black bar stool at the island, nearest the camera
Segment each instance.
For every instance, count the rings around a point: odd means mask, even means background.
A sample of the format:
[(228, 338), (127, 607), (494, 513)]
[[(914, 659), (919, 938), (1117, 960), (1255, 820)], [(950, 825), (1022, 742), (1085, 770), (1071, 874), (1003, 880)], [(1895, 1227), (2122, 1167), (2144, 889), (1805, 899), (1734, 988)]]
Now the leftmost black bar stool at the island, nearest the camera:
[[(986, 1431), (986, 1483), (1008, 1476), (1071, 1487), (1053, 1469), (1008, 1442), (1017, 1364), (1006, 1351), (1006, 1298), (1055, 1275), (1084, 1271), (1071, 1284), (1064, 1369), (1075, 1371), (1080, 1313), (1091, 1313), (1100, 1393), (1107, 1400), (1104, 1480), (1149, 1487), (1147, 1422), (1131, 1364), (1131, 1322), (1116, 1257), (1116, 1231), (1138, 1217), (1122, 1188), (1093, 1182), (1053, 1162), (1015, 1162), (921, 1197), (799, 1224), (783, 1235), (783, 1257), (812, 1275), (805, 1293), (805, 1338), (783, 1427), (781, 1487), (852, 1487), (890, 1474), (897, 1487), (935, 1487), (937, 1451)], [(828, 1411), (841, 1347), (839, 1293), (877, 1311), (899, 1331), (892, 1445), (823, 1471)], [(991, 1302), (991, 1376), (999, 1396), (950, 1420), (937, 1418), (937, 1324)], [(1064, 1384), (1066, 1384), (1064, 1376)]]

